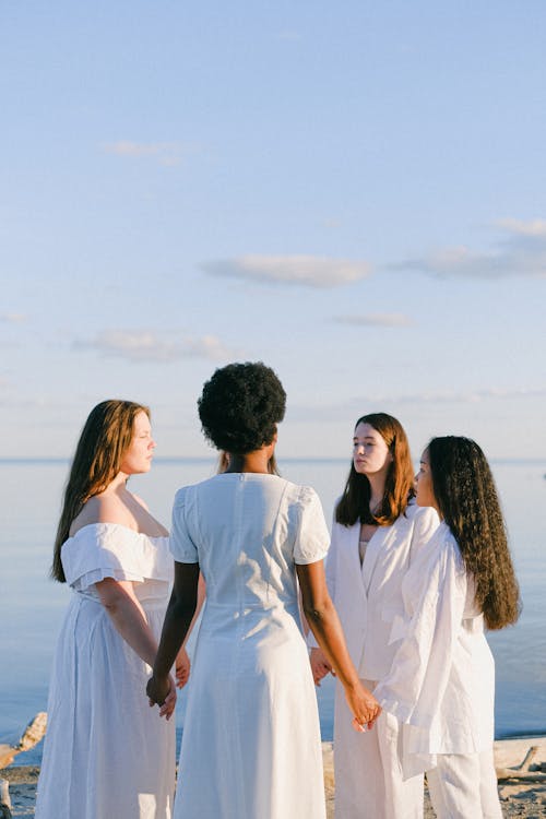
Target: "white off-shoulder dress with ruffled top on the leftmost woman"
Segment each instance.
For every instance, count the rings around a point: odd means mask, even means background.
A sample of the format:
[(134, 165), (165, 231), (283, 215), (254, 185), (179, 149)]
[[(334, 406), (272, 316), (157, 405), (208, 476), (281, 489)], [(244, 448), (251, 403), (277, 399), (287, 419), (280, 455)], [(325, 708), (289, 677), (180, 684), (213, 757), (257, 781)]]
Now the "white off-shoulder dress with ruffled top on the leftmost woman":
[(72, 587), (54, 661), (36, 819), (169, 819), (175, 723), (145, 697), (150, 666), (118, 633), (95, 583), (133, 581), (158, 640), (173, 577), (167, 537), (93, 523), (62, 546)]

